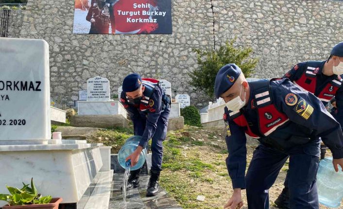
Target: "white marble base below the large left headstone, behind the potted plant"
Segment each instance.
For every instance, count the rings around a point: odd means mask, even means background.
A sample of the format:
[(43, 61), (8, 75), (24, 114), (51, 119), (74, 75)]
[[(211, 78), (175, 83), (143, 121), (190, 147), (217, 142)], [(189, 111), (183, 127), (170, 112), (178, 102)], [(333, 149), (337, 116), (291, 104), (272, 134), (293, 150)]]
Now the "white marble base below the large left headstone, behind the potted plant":
[(78, 202), (103, 166), (98, 145), (72, 150), (0, 151), (0, 159), (0, 166), (6, 168), (0, 178), (0, 193), (8, 192), (6, 184), (21, 187), (22, 181), (30, 182), (33, 177), (39, 193), (62, 197), (63, 203)]

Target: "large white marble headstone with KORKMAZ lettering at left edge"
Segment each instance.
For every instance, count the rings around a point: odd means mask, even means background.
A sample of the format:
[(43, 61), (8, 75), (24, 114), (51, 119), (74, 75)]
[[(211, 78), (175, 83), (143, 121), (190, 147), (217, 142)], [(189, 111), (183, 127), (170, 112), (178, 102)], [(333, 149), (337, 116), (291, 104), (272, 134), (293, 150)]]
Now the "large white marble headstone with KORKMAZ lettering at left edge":
[(51, 137), (49, 45), (0, 38), (0, 140)]

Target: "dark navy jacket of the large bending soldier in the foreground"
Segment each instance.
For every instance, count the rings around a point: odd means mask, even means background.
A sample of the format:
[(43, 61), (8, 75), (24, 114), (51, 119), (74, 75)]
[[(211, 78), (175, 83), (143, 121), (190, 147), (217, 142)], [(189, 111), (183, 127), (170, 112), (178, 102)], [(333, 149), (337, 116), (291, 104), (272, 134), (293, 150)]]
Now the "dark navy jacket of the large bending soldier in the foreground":
[[(249, 83), (250, 90), (257, 81), (251, 81)], [(272, 80), (270, 81), (270, 96), (272, 104), (278, 112), (285, 114), (289, 120), (284, 124), (277, 127), (269, 136), (268, 139), (276, 142), (277, 148), (285, 149), (297, 147), (298, 140), (309, 138), (311, 141), (319, 141), (319, 137), (322, 138), (324, 143), (330, 148), (335, 159), (343, 158), (343, 134), (340, 124), (332, 117), (330, 113), (326, 111), (325, 106), (319, 99), (309, 92), (304, 92), (295, 86), (288, 79)], [(294, 95), (297, 97), (297, 101), (305, 101), (306, 106), (309, 105), (313, 108), (311, 112), (304, 115), (297, 112), (295, 107), (298, 105), (287, 103), (287, 96)], [(293, 98), (294, 98), (293, 96)], [(254, 98), (253, 92), (250, 91), (249, 101), (247, 105), (240, 109), (240, 114), (245, 116), (249, 129), (260, 137), (259, 141), (264, 142), (265, 135), (261, 134), (258, 127), (259, 121), (257, 116), (256, 101), (252, 101)], [(260, 97), (262, 100), (264, 96)], [(268, 100), (267, 100), (268, 101)], [(292, 101), (294, 102), (294, 100)], [(225, 107), (225, 114), (230, 115), (233, 113), (228, 111)], [(303, 112), (304, 113), (304, 112)], [(231, 114), (232, 115), (232, 114)], [(268, 114), (267, 114), (268, 116)], [(228, 135), (225, 138), (227, 150), (229, 155), (226, 159), (226, 166), (229, 172), (229, 176), (232, 179), (233, 188), (245, 188), (245, 168), (246, 168), (246, 136), (245, 131), (247, 128), (237, 125), (229, 116), (224, 116), (226, 128), (228, 129)], [(295, 137), (295, 138), (294, 138)], [(309, 142), (310, 142), (309, 141)], [(305, 142), (307, 143), (307, 142)], [(264, 143), (262, 143), (264, 144)], [(273, 146), (266, 144), (267, 146)]]

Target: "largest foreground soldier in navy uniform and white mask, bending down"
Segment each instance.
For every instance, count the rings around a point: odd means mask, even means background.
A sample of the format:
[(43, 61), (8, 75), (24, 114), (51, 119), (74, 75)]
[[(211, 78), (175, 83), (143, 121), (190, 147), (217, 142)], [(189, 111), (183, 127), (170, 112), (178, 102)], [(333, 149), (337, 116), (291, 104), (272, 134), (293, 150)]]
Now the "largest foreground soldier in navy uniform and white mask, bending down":
[[(246, 189), (249, 209), (268, 209), (268, 190), (290, 157), (291, 208), (319, 209), (316, 174), (320, 137), (333, 154), (336, 172), (338, 165), (343, 169), (342, 129), (323, 103), (289, 79), (247, 82), (236, 64), (220, 69), (214, 88), (216, 97), (226, 102), (226, 166), (234, 189), (224, 207), (241, 208), (241, 189)], [(245, 133), (260, 143), (246, 176)]]

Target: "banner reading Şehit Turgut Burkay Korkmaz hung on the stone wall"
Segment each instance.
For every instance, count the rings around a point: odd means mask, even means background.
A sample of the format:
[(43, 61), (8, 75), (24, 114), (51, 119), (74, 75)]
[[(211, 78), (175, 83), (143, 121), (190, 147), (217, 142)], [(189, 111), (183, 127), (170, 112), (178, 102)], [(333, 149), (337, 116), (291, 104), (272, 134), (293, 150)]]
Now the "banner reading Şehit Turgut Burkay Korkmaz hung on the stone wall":
[(172, 34), (172, 1), (75, 0), (73, 33)]

